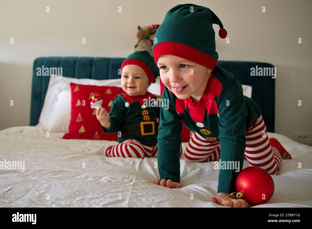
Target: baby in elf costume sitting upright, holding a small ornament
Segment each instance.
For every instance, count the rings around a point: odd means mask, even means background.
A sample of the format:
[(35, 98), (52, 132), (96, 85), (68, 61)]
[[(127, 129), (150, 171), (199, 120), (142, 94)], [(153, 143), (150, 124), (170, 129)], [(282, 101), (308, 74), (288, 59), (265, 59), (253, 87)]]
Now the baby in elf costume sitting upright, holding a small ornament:
[[(107, 157), (157, 157), (160, 107), (146, 106), (150, 104), (148, 100), (157, 100), (147, 91), (155, 83), (155, 68), (149, 52), (130, 54), (121, 65), (121, 87), (125, 93), (116, 95), (110, 113), (104, 108), (96, 111), (104, 133), (118, 133), (119, 144), (102, 147)], [(181, 155), (181, 144), (179, 152)]]

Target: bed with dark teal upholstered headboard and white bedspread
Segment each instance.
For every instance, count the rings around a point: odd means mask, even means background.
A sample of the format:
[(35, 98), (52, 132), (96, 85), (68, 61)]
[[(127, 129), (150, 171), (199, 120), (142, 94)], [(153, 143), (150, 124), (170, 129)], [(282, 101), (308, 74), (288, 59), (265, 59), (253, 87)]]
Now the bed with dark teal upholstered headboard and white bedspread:
[[(107, 158), (90, 152), (117, 142), (61, 139), (64, 133), (50, 133), (47, 138), (36, 126), (49, 82), (49, 76), (36, 75), (38, 66), (66, 66), (63, 76), (67, 77), (116, 79), (123, 60), (40, 57), (34, 61), (30, 126), (0, 131), (0, 161), (25, 161), (24, 172), (0, 170), (0, 207), (223, 207), (208, 202), (217, 195), (218, 170), (213, 169), (213, 162), (188, 163), (182, 156), (183, 188), (164, 188), (152, 183), (159, 178), (154, 168), (157, 158)], [(292, 156), (283, 160), (279, 175), (272, 175), (275, 192), (271, 200), (251, 207), (311, 207), (312, 147), (274, 133), (275, 80), (250, 76), (251, 67), (273, 66), (241, 61), (218, 61), (218, 65), (241, 84), (252, 86), (252, 98), (262, 111), (268, 136), (278, 139)], [(244, 168), (248, 166), (245, 160)]]

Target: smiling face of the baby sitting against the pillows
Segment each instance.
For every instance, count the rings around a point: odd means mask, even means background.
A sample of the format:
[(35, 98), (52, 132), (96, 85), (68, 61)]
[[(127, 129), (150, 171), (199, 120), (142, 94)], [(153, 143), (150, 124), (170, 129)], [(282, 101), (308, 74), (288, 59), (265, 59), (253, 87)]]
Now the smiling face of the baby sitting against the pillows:
[(123, 67), (121, 72), (121, 87), (128, 95), (145, 95), (149, 85), (149, 78), (143, 68), (134, 64), (128, 64)]

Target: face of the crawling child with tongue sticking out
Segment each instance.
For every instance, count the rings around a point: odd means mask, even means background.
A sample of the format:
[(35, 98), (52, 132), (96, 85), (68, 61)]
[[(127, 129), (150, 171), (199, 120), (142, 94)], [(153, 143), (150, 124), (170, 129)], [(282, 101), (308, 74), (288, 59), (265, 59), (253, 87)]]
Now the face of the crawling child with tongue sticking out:
[(178, 56), (158, 57), (160, 79), (179, 99), (198, 101), (206, 88), (212, 70)]

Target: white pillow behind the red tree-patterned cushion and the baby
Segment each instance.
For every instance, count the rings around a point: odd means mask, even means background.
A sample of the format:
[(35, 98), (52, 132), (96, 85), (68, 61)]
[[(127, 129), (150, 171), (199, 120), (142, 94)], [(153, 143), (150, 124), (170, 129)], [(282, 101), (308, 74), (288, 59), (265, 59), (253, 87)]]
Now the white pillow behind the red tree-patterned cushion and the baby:
[[(159, 78), (156, 79), (154, 84), (149, 86), (148, 91), (150, 93), (160, 95)], [(39, 117), (39, 123), (36, 125), (38, 128), (52, 133), (68, 132), (71, 118), (71, 100), (64, 100), (62, 98), (71, 96), (71, 82), (83, 85), (121, 87), (121, 79), (92, 80), (51, 76)]]

